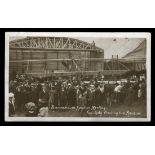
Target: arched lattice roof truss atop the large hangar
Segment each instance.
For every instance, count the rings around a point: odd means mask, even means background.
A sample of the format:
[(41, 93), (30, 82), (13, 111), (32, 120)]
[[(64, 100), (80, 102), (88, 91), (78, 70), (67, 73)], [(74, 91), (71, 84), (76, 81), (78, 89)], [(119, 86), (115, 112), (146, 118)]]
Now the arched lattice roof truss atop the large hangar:
[(87, 43), (67, 37), (27, 37), (10, 41), (10, 48), (93, 50), (103, 52), (103, 49), (96, 47), (94, 42)]

